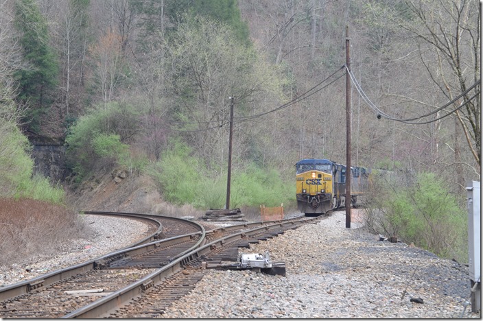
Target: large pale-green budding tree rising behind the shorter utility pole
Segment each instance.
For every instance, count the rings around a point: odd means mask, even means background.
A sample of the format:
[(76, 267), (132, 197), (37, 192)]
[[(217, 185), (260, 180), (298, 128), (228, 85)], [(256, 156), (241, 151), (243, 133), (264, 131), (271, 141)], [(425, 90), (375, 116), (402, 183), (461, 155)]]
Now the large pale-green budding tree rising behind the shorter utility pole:
[[(229, 120), (228, 98), (235, 98), (235, 114), (242, 117), (255, 110), (260, 112), (267, 102), (274, 106), (281, 97), (281, 84), (275, 71), (253, 49), (237, 43), (230, 27), (203, 16), (183, 18), (165, 49), (167, 87), (174, 97), (169, 114), (182, 123), (178, 129), (185, 131), (198, 155), (222, 174), (228, 139), (228, 126), (224, 126)], [(234, 142), (239, 145), (233, 150), (241, 158), (246, 155), (249, 137), (240, 130), (235, 130), (235, 135)]]

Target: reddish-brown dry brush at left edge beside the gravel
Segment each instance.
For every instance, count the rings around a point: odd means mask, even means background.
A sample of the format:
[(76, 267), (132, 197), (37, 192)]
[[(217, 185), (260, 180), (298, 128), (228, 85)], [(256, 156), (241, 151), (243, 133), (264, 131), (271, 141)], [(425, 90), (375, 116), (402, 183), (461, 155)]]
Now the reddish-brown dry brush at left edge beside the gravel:
[(77, 213), (31, 199), (0, 198), (0, 264), (56, 252), (59, 242), (82, 236)]

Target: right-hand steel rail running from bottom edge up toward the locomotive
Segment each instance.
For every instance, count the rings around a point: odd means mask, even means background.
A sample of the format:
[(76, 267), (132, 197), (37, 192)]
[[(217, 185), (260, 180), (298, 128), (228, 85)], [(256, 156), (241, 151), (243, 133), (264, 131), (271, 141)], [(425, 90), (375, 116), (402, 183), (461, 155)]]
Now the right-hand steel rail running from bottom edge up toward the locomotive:
[(123, 305), (127, 305), (128, 301), (132, 300), (133, 298), (141, 296), (145, 290), (163, 282), (165, 278), (168, 278), (172, 274), (182, 270), (182, 268), (184, 268), (187, 263), (193, 261), (193, 259), (197, 259), (204, 254), (208, 254), (212, 250), (220, 248), (224, 244), (237, 241), (239, 239), (245, 239), (250, 235), (256, 235), (261, 230), (272, 230), (279, 227), (285, 228), (285, 230), (289, 228), (298, 228), (298, 226), (301, 226), (307, 221), (316, 221), (319, 218), (320, 217), (314, 217), (312, 219), (291, 220), (290, 222), (276, 222), (274, 224), (252, 228), (251, 230), (243, 230), (239, 233), (211, 241), (210, 243), (204, 244), (196, 250), (192, 250), (191, 252), (184, 254), (182, 257), (178, 257), (178, 259), (163, 266), (163, 268), (148, 274), (148, 276), (141, 278), (139, 281), (132, 283), (128, 287), (119, 289), (118, 291), (113, 292), (113, 294), (104, 296), (103, 298), (96, 300), (89, 305), (72, 311), (62, 318), (104, 318), (115, 309), (118, 309)]

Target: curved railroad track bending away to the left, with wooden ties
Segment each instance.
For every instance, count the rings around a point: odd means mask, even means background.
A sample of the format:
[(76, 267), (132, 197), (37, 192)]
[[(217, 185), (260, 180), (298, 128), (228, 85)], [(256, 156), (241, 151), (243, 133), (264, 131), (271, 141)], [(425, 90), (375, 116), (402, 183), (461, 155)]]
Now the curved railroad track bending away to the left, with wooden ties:
[[(200, 246), (204, 228), (200, 224), (156, 215), (136, 213), (86, 212), (95, 215), (117, 215), (147, 221), (158, 226), (154, 233), (130, 247), (16, 283), (0, 289), (1, 318), (60, 318), (91, 303), (99, 296), (130, 285), (182, 252)], [(181, 235), (180, 235), (181, 234)], [(163, 237), (163, 239), (160, 239)], [(156, 266), (141, 267), (136, 260), (158, 255)], [(128, 258), (128, 259), (126, 259)], [(146, 262), (149, 259), (145, 259)], [(109, 265), (116, 265), (108, 269)]]

